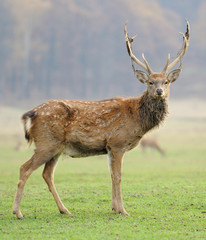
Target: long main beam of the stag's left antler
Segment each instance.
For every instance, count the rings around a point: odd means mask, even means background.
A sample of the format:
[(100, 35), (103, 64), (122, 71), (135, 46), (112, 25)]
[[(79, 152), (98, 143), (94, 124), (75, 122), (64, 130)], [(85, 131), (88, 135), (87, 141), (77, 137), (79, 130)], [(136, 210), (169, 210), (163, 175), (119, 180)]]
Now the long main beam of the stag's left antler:
[(137, 63), (140, 67), (144, 68), (150, 74), (151, 73), (150, 68), (148, 69), (147, 65), (144, 65), (144, 63), (142, 63), (139, 59), (137, 59), (132, 52), (132, 42), (133, 42), (133, 40), (136, 36), (134, 36), (132, 38), (128, 37), (127, 22), (124, 25), (124, 35), (125, 35), (125, 42), (126, 42), (126, 45), (127, 45), (127, 52), (129, 54), (129, 56), (131, 57), (132, 67), (133, 67), (134, 73), (135, 73), (135, 68), (134, 68), (133, 62)]

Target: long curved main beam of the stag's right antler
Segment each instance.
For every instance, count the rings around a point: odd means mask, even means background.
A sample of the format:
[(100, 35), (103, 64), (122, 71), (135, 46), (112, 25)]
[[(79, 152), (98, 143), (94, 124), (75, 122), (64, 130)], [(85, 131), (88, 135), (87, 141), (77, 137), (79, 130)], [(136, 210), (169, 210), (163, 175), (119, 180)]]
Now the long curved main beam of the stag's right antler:
[(183, 56), (185, 55), (185, 53), (187, 52), (187, 49), (189, 47), (189, 40), (190, 40), (190, 24), (187, 21), (187, 19), (185, 18), (185, 21), (187, 23), (187, 30), (185, 33), (180, 33), (183, 36), (183, 40), (184, 40), (184, 45), (182, 47), (182, 50), (179, 54), (179, 56), (172, 62), (170, 63), (170, 65), (167, 67), (167, 69), (165, 70), (165, 72), (168, 72), (171, 68), (173, 68), (179, 61), (182, 60)]

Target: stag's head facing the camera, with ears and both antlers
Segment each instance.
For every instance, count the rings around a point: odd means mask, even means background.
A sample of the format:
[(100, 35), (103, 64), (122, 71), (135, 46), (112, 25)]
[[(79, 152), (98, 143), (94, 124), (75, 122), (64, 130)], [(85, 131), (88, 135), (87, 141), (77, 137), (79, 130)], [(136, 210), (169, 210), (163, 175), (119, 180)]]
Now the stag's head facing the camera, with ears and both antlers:
[[(177, 58), (170, 64), (169, 64), (170, 54), (168, 54), (166, 65), (161, 73), (155, 73), (152, 71), (146, 58), (144, 57), (144, 54), (142, 54), (144, 63), (135, 57), (135, 55), (132, 52), (132, 42), (135, 37), (132, 37), (132, 38), (128, 37), (127, 23), (125, 24), (125, 28), (124, 28), (125, 41), (127, 45), (128, 54), (132, 60), (132, 68), (133, 68), (134, 74), (141, 83), (147, 84), (147, 92), (153, 98), (160, 98), (160, 99), (167, 98), (169, 95), (170, 84), (176, 81), (176, 79), (180, 75), (180, 72), (182, 70), (181, 60), (185, 55), (189, 46), (190, 25), (187, 20), (186, 20), (186, 23), (187, 23), (186, 33), (185, 34), (181, 33), (181, 35), (183, 36), (183, 47), (180, 53), (178, 54)], [(169, 72), (169, 70), (171, 70), (178, 62), (180, 62), (180, 66), (177, 69)], [(134, 67), (134, 63), (138, 64), (146, 72), (141, 70), (136, 70)]]

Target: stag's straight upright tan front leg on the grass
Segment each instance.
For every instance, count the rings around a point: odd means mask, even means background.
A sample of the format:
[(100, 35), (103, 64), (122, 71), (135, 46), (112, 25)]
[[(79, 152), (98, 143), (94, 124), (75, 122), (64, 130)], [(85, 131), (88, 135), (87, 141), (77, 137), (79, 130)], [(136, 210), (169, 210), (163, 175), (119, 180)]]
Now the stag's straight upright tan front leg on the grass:
[(122, 157), (123, 153), (109, 151), (109, 166), (112, 179), (112, 209), (115, 213), (129, 215), (124, 207), (121, 193)]

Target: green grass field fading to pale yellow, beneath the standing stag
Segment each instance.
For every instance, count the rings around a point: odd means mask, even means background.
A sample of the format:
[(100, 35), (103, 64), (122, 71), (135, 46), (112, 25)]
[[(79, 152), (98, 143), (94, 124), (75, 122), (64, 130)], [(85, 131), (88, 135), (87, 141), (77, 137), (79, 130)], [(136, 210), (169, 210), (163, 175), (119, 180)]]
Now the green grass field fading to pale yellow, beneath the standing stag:
[(172, 106), (177, 115), (150, 135), (165, 157), (139, 148), (125, 155), (122, 192), (129, 217), (111, 210), (106, 156), (62, 156), (55, 185), (73, 217), (58, 212), (41, 167), (24, 189), (24, 220), (12, 214), (12, 204), (19, 167), (32, 147), (14, 149), (18, 138), (23, 141), (23, 111), (1, 108), (0, 239), (206, 239), (206, 116), (193, 113), (198, 107), (187, 114), (179, 108)]

